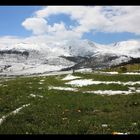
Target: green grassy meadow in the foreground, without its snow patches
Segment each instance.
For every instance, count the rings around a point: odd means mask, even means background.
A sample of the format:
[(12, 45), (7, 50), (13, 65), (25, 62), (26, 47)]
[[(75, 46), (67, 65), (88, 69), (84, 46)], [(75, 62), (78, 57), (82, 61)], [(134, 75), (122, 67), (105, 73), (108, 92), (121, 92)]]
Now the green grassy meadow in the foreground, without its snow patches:
[[(140, 76), (132, 75), (75, 75), (98, 81), (140, 79)], [(24, 104), (30, 103), (30, 106), (7, 117), (0, 125), (0, 134), (111, 134), (114, 131), (140, 134), (140, 94), (102, 96), (82, 93), (99, 89), (128, 90), (128, 86), (113, 84), (85, 86), (79, 88), (79, 92), (48, 90), (48, 86), (68, 87), (61, 80), (63, 77), (65, 75), (18, 77), (1, 81), (7, 87), (0, 86), (0, 118)], [(40, 85), (41, 79), (45, 81)], [(33, 98), (30, 94), (43, 98)], [(108, 127), (102, 127), (102, 124)]]

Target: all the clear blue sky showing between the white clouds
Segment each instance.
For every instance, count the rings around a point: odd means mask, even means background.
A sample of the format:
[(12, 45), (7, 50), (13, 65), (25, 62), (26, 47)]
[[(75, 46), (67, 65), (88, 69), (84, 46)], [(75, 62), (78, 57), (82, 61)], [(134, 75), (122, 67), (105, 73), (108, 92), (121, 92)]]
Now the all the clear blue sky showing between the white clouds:
[[(42, 9), (41, 6), (0, 6), (0, 37), (3, 36), (32, 36), (32, 31), (22, 26), (22, 22), (34, 16), (34, 12)], [(90, 19), (89, 19), (90, 20)], [(66, 29), (69, 26), (78, 26), (79, 23), (71, 19), (67, 14), (50, 15), (47, 23), (53, 26), (54, 23), (65, 23)], [(134, 25), (135, 26), (135, 25)], [(129, 39), (140, 39), (140, 34), (133, 32), (102, 32), (97, 31), (94, 34), (89, 30), (82, 35), (83, 39), (89, 39), (101, 44), (109, 44)]]

